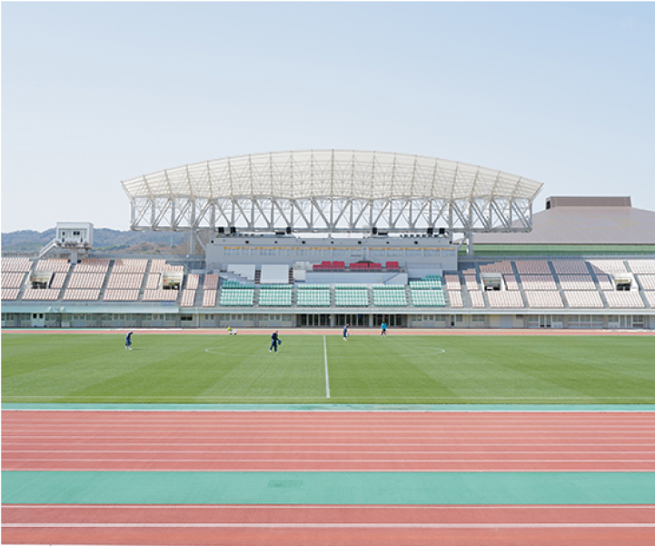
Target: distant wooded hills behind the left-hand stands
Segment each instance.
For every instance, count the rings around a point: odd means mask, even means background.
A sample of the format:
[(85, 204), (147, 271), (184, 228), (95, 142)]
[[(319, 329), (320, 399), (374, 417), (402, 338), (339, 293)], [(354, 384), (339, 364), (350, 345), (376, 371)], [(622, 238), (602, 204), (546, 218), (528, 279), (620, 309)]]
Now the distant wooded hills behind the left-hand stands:
[[(55, 229), (2, 233), (3, 251), (38, 251), (55, 238)], [(186, 233), (121, 232), (94, 228), (94, 250), (121, 253), (184, 253)]]

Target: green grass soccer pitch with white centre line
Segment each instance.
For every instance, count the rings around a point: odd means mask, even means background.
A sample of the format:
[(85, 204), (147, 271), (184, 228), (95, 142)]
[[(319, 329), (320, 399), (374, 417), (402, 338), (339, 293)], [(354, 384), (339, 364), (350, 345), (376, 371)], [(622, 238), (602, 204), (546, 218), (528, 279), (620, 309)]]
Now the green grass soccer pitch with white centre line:
[[(324, 343), (324, 345), (323, 345)], [(655, 337), (3, 333), (3, 402), (653, 403)], [(325, 352), (330, 384), (326, 392)]]

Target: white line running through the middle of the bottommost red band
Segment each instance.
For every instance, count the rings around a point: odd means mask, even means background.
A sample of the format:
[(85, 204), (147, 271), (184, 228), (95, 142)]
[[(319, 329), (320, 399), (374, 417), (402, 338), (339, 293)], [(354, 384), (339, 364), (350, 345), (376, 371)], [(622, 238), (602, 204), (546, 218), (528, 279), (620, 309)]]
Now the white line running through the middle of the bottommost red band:
[(216, 529), (624, 529), (655, 523), (3, 523), (14, 528), (216, 528)]

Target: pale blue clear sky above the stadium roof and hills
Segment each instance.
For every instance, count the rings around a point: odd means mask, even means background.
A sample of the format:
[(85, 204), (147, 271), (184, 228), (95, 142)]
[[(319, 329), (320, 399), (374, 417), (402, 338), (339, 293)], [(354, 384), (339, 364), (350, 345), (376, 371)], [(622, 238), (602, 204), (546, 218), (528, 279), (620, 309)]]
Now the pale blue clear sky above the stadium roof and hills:
[(122, 180), (358, 149), (655, 211), (654, 3), (3, 2), (2, 232), (129, 229)]

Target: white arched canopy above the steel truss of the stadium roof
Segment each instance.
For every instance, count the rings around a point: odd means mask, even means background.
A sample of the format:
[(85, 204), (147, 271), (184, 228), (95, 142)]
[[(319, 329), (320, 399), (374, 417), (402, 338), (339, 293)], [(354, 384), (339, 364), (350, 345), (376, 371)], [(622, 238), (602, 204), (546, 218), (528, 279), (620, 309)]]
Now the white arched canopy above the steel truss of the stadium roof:
[(515, 174), (422, 155), (308, 150), (240, 155), (186, 164), (123, 183), (131, 199), (525, 199), (541, 183)]

